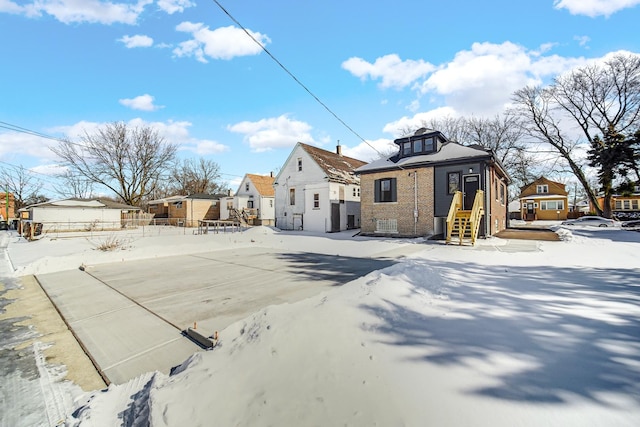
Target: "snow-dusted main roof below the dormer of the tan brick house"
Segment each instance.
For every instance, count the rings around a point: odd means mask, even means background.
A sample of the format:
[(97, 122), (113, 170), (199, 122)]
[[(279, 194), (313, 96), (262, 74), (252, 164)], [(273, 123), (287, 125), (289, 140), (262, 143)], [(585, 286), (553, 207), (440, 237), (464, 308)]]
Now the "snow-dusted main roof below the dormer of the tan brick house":
[(402, 157), (397, 162), (392, 159), (395, 155), (386, 159), (375, 160), (359, 167), (356, 173), (367, 173), (379, 170), (411, 168), (414, 166), (431, 166), (452, 161), (464, 161), (475, 159), (489, 159), (493, 155), (490, 151), (479, 146), (467, 146), (457, 142), (448, 141), (442, 144), (440, 150), (420, 156)]

